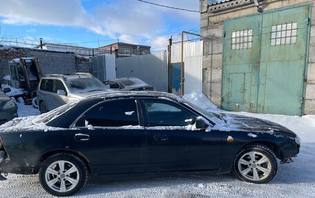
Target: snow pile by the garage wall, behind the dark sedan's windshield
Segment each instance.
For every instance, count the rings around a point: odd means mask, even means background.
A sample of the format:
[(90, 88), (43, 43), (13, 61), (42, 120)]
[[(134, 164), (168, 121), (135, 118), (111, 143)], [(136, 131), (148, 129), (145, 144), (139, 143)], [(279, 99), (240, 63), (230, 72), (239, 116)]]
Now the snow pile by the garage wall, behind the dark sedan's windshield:
[(193, 91), (191, 94), (184, 95), (185, 100), (193, 103), (195, 106), (199, 106), (200, 108), (207, 111), (219, 111), (220, 109), (214, 103), (208, 99), (204, 93), (200, 91)]

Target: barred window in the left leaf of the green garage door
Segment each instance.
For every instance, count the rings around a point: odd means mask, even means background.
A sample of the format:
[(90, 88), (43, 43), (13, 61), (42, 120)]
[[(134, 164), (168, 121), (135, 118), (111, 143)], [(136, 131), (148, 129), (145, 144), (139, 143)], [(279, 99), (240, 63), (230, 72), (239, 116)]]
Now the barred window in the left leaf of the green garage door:
[(232, 32), (232, 50), (251, 48), (253, 43), (253, 30), (238, 30)]

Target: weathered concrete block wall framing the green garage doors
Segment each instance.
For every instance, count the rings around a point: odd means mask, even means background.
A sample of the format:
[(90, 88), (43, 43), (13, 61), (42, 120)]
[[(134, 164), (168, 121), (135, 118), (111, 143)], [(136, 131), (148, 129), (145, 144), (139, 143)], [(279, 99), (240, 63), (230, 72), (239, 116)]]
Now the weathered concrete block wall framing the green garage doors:
[[(235, 6), (236, 2), (240, 6)], [(274, 10), (285, 6), (314, 2), (312, 0), (264, 0), (262, 10)], [(233, 7), (231, 5), (235, 7)], [(211, 11), (212, 9), (212, 11)], [(216, 12), (213, 10), (216, 9)], [(207, 0), (200, 0), (200, 34), (204, 40), (203, 92), (213, 103), (221, 106), (221, 77), (224, 21), (250, 14), (258, 14), (254, 3), (246, 0), (233, 0), (215, 6), (207, 6)], [(312, 28), (309, 43), (309, 64), (305, 93), (305, 114), (315, 114), (315, 6), (312, 8)]]

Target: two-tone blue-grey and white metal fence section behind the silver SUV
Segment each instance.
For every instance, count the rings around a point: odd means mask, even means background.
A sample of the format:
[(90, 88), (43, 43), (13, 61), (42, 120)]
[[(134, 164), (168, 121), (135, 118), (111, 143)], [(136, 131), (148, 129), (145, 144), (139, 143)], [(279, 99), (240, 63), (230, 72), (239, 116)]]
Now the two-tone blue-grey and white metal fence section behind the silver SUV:
[(90, 73), (104, 81), (116, 77), (115, 55), (102, 55), (90, 58)]

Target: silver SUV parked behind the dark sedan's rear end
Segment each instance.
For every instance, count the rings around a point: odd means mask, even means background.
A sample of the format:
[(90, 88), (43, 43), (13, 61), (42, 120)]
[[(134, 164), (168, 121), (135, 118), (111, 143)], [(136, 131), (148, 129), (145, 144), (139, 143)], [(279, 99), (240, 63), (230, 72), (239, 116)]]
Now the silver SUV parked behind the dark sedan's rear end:
[(88, 95), (108, 92), (108, 89), (89, 73), (46, 75), (37, 88), (37, 104), (41, 113)]

